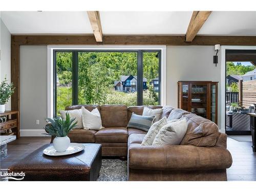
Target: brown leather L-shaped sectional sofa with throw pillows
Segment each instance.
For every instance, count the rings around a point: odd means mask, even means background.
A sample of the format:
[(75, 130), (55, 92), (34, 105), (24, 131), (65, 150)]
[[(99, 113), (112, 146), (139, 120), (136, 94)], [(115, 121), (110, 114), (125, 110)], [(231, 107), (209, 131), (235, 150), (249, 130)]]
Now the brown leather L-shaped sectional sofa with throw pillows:
[(174, 110), (173, 113), (187, 120), (188, 129), (181, 144), (141, 146), (146, 132), (127, 128), (126, 125), (133, 112), (142, 115), (143, 106), (73, 105), (67, 106), (66, 110), (80, 109), (81, 106), (89, 111), (97, 107), (105, 128), (99, 131), (72, 130), (69, 134), (71, 141), (100, 143), (102, 156), (127, 157), (128, 180), (227, 180), (226, 168), (231, 166), (232, 157), (226, 149), (226, 134), (220, 133), (214, 122), (186, 111), (165, 107), (162, 117), (168, 117)]

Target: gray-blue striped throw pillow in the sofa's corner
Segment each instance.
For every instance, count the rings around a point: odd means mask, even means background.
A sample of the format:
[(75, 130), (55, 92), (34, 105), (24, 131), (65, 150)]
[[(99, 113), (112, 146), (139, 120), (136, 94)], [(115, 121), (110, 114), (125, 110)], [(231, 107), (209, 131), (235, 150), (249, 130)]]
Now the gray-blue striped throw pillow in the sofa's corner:
[(136, 128), (147, 132), (150, 129), (154, 118), (155, 116), (142, 116), (133, 113), (127, 127)]

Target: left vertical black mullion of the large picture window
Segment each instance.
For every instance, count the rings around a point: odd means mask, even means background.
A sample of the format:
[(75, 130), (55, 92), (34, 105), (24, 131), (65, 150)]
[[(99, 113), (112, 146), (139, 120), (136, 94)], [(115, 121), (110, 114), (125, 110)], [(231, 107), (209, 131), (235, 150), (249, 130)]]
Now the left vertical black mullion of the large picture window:
[(78, 103), (78, 54), (72, 51), (72, 104)]

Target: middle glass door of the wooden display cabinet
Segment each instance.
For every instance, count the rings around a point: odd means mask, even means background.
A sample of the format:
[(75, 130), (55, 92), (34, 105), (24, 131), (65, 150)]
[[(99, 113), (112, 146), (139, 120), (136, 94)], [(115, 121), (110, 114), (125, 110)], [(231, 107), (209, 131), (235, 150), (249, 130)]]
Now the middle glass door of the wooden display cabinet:
[(207, 84), (191, 85), (191, 113), (207, 118)]

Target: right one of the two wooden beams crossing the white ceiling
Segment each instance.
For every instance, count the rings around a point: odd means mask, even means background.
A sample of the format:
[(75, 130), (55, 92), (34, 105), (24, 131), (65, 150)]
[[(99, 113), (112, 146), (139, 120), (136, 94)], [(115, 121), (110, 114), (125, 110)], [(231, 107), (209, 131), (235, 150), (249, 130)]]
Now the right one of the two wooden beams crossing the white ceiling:
[(191, 42), (197, 35), (198, 31), (204, 25), (205, 21), (211, 14), (211, 11), (193, 11), (186, 32), (186, 41)]

